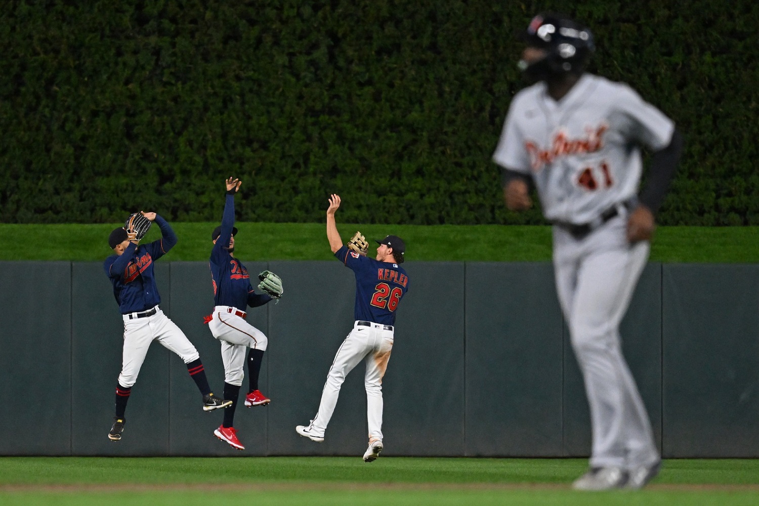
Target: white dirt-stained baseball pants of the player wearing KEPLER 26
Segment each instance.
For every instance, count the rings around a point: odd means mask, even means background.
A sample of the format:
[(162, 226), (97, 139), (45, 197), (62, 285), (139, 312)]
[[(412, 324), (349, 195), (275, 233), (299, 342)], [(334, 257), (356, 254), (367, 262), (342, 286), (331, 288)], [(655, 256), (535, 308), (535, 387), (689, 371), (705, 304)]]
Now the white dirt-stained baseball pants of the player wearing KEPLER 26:
[[(365, 325), (366, 323), (369, 325)], [(324, 435), (332, 413), (335, 411), (335, 404), (337, 404), (342, 383), (345, 382), (345, 376), (348, 376), (348, 372), (364, 360), (367, 366), (364, 387), (367, 390), (369, 440), (382, 440), (382, 379), (390, 360), (392, 341), (393, 330), (389, 325), (373, 322), (354, 323), (353, 330), (340, 345), (335, 354), (335, 360), (329, 368), (319, 412), (310, 424), (315, 434)]]

